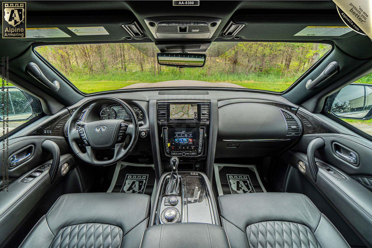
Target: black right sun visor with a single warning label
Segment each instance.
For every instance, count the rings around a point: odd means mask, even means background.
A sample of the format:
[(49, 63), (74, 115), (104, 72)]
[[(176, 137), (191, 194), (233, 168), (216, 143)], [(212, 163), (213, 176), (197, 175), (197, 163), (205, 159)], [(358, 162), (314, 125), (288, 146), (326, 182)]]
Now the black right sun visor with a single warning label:
[[(235, 25), (244, 25), (234, 36), (251, 40), (324, 40), (357, 35), (337, 15), (243, 15), (232, 19)], [(228, 29), (229, 27), (225, 27)], [(343, 30), (334, 30), (339, 28)], [(224, 29), (224, 30), (225, 30)], [(322, 29), (322, 30), (320, 30)], [(333, 32), (327, 32), (333, 30)], [(324, 32), (323, 32), (324, 31)], [(336, 32), (337, 31), (337, 32)]]

